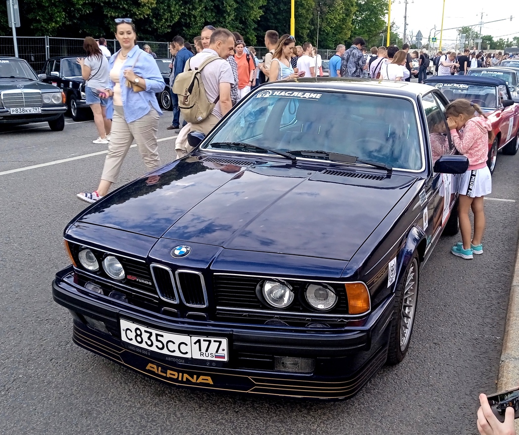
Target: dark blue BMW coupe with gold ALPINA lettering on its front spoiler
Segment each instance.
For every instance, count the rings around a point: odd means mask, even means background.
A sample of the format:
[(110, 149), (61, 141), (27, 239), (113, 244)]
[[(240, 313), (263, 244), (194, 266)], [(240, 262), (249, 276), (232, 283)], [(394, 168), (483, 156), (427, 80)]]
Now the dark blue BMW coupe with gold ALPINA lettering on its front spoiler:
[(420, 270), (458, 231), (468, 160), (446, 104), (406, 82), (253, 90), (185, 158), (67, 225), (52, 293), (74, 342), (174, 385), (354, 395), (404, 359)]

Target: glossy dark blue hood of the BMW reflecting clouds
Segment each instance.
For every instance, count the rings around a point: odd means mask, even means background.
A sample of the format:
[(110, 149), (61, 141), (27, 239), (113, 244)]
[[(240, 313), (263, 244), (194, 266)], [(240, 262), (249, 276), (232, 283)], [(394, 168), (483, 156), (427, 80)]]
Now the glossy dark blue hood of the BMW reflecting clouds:
[(185, 244), (349, 260), (416, 181), (209, 160), (176, 161), (78, 220)]

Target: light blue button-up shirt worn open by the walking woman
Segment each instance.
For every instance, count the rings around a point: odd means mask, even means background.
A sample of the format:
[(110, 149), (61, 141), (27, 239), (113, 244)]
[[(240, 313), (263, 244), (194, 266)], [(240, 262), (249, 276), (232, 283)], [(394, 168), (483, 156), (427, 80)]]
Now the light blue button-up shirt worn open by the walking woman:
[[(120, 50), (119, 50), (120, 51)], [(114, 53), (108, 61), (108, 70), (112, 71), (114, 62), (119, 54)], [(139, 53), (141, 54), (139, 56)], [(139, 59), (135, 63), (135, 59)], [(135, 63), (135, 66), (133, 65)], [(126, 68), (133, 68), (133, 72), (142, 77), (146, 81), (146, 89), (142, 92), (133, 92), (131, 88), (126, 86), (124, 71)], [(157, 102), (156, 92), (162, 92), (166, 86), (162, 74), (160, 74), (157, 62), (153, 57), (141, 50), (139, 46), (133, 47), (128, 53), (128, 58), (122, 64), (119, 74), (119, 83), (121, 87), (122, 108), (125, 111), (126, 122), (132, 122), (141, 119), (150, 110), (150, 105), (162, 115), (159, 104)], [(115, 83), (110, 79), (106, 89), (114, 90)], [(106, 118), (112, 119), (114, 114), (113, 98), (110, 97), (106, 102)]]

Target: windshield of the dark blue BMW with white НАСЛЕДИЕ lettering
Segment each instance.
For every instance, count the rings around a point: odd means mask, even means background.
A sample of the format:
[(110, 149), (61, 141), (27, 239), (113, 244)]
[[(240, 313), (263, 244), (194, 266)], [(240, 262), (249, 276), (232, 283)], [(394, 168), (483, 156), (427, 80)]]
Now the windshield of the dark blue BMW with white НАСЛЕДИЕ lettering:
[(394, 168), (422, 167), (414, 105), (394, 96), (260, 89), (204, 147), (216, 142), (323, 150)]

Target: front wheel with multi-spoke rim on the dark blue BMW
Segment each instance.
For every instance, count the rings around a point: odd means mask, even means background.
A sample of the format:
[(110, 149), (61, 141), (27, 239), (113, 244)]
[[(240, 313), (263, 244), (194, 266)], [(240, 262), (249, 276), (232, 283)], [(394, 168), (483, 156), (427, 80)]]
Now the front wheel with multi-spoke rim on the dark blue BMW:
[[(419, 265), (418, 252), (415, 251), (395, 289), (387, 358), (387, 363), (390, 365), (398, 364), (402, 361), (409, 349), (416, 314)], [(407, 321), (404, 320), (404, 312), (406, 313)], [(403, 322), (405, 322), (405, 328), (403, 327)], [(405, 329), (404, 337), (402, 336), (403, 329)]]

